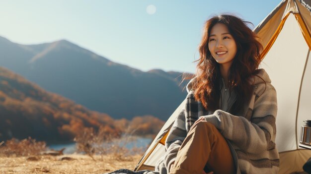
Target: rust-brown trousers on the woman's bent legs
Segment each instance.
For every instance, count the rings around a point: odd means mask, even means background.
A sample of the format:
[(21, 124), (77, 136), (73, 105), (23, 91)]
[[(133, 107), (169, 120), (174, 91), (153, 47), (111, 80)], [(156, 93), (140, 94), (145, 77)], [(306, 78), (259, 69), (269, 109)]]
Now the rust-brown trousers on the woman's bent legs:
[(226, 139), (211, 123), (200, 117), (183, 141), (169, 174), (234, 174), (233, 157)]

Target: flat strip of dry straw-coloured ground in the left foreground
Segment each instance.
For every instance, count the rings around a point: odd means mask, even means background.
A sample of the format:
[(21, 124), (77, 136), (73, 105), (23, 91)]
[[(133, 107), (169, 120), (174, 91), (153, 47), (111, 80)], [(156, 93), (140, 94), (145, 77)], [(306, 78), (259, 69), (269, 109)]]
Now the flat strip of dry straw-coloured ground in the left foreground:
[[(70, 157), (72, 160), (61, 160)], [(117, 169), (134, 170), (142, 155), (123, 159), (107, 155), (94, 156), (70, 154), (62, 156), (0, 157), (0, 174), (103, 174)], [(27, 160), (28, 159), (28, 160)]]

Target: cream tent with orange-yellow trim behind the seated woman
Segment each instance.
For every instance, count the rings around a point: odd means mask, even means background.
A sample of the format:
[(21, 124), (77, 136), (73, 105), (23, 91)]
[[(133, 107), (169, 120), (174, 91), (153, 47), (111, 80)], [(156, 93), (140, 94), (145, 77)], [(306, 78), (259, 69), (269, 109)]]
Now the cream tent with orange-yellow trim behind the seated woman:
[[(311, 119), (311, 0), (283, 0), (254, 32), (264, 48), (260, 66), (268, 72), (277, 91), (279, 173), (299, 172), (311, 157), (311, 150), (298, 146), (303, 120)], [(135, 171), (154, 169), (184, 102), (166, 121)]]

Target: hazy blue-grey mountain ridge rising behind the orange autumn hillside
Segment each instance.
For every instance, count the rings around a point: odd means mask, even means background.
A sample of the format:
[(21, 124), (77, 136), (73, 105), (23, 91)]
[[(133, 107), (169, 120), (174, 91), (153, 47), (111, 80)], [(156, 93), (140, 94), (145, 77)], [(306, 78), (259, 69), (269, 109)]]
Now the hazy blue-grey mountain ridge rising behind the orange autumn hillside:
[(2, 66), (113, 118), (153, 115), (166, 120), (186, 96), (187, 81), (179, 86), (180, 72), (144, 72), (66, 40), (20, 45), (0, 37), (0, 53)]

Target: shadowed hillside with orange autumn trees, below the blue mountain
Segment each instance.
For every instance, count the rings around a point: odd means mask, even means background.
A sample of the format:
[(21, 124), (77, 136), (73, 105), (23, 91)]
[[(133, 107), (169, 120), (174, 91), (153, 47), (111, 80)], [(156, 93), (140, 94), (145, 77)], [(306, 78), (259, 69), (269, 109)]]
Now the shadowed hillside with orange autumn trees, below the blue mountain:
[(31, 136), (45, 141), (70, 141), (83, 127), (106, 126), (111, 131), (156, 134), (163, 121), (154, 116), (114, 120), (90, 111), (57, 94), (46, 92), (21, 76), (0, 67), (0, 140)]

